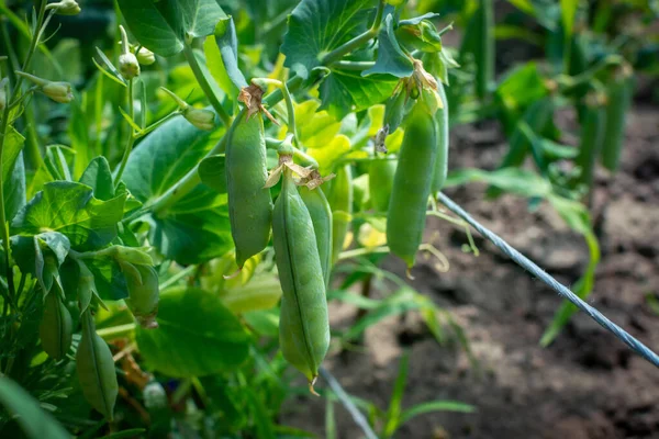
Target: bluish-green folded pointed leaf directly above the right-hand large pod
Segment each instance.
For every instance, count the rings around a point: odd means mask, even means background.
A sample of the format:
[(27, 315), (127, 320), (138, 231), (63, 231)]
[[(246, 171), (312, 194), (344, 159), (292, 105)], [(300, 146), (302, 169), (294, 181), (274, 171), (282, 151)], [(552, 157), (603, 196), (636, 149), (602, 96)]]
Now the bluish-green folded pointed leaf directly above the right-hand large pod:
[(376, 65), (368, 70), (364, 70), (361, 76), (389, 74), (396, 78), (406, 78), (413, 71), (414, 66), (412, 65), (412, 60), (401, 49), (393, 32), (393, 15), (389, 14), (384, 19), (384, 25), (378, 34), (378, 58)]

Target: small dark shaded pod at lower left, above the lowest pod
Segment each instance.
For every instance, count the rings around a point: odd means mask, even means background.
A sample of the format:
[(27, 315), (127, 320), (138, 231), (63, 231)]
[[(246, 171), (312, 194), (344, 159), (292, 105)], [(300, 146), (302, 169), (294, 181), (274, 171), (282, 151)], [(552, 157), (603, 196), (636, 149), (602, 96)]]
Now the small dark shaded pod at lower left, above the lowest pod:
[(59, 296), (59, 289), (54, 290), (46, 295), (38, 335), (48, 357), (62, 360), (71, 347), (74, 325), (71, 314)]

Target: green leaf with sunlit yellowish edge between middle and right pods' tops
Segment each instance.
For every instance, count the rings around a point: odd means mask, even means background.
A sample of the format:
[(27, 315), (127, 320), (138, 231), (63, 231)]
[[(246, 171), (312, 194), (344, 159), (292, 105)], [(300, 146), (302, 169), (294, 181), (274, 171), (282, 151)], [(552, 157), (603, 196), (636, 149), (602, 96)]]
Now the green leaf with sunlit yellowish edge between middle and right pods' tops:
[(350, 112), (359, 112), (383, 102), (391, 95), (396, 80), (390, 75), (361, 77), (348, 70), (332, 70), (321, 85), (321, 110), (340, 120)]

